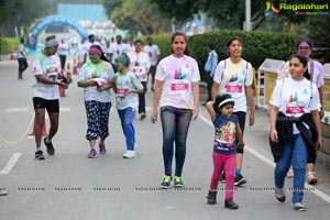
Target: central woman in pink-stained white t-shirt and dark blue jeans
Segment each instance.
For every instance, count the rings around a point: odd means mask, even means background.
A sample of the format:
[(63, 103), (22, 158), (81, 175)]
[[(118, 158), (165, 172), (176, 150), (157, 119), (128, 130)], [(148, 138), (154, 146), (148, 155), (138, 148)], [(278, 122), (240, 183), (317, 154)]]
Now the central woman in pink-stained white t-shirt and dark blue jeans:
[(151, 120), (157, 121), (161, 102), (163, 129), (163, 157), (165, 176), (161, 187), (169, 188), (175, 142), (174, 186), (183, 187), (182, 172), (186, 157), (186, 141), (191, 118), (198, 117), (199, 69), (197, 62), (188, 56), (188, 38), (183, 32), (170, 37), (172, 55), (163, 58), (156, 70), (154, 103)]

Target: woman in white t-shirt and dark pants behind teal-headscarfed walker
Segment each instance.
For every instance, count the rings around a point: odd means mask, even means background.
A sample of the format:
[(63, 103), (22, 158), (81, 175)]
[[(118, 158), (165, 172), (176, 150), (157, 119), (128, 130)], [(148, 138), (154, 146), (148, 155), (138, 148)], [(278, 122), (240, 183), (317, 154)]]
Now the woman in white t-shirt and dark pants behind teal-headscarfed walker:
[(146, 53), (142, 51), (142, 41), (136, 40), (134, 42), (135, 50), (128, 53), (130, 57), (130, 72), (135, 74), (143, 86), (143, 92), (139, 94), (139, 113), (140, 120), (145, 119), (145, 92), (147, 73), (150, 69), (150, 58)]

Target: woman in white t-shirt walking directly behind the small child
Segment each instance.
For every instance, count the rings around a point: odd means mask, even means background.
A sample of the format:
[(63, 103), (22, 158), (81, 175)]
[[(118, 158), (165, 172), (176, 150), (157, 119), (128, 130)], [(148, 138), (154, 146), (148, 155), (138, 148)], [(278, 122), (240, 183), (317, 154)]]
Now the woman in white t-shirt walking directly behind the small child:
[[(229, 58), (221, 61), (215, 72), (212, 86), (212, 100), (217, 95), (230, 94), (235, 100), (233, 114), (239, 117), (239, 123), (244, 133), (245, 117), (248, 111), (246, 99), (250, 106), (250, 125), (254, 124), (254, 105), (252, 92), (252, 66), (244, 61), (242, 55), (242, 40), (238, 36), (231, 37), (226, 45)], [(246, 183), (241, 174), (243, 163), (243, 148), (238, 148), (235, 166), (235, 186)], [(226, 174), (221, 180), (224, 180)]]

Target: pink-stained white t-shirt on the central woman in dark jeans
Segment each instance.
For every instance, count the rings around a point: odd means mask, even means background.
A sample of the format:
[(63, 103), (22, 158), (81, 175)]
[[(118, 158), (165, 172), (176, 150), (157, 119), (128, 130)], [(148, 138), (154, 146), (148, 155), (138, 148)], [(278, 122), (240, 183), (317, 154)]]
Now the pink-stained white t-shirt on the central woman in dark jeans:
[(169, 55), (157, 65), (155, 78), (163, 81), (161, 107), (194, 108), (191, 84), (200, 80), (197, 62), (190, 56)]

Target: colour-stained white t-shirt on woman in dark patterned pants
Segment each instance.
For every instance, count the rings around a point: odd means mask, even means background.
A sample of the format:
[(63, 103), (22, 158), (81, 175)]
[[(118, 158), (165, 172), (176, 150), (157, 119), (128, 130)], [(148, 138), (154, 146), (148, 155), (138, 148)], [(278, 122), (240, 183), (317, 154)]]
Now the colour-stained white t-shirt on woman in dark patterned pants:
[[(87, 62), (84, 64), (79, 70), (79, 81), (89, 80), (103, 80), (106, 84), (114, 76), (111, 64), (108, 62), (101, 62), (99, 64), (94, 64), (92, 62)], [(99, 102), (110, 102), (110, 90), (98, 91), (97, 86), (84, 88), (84, 100), (85, 101), (99, 101)]]

